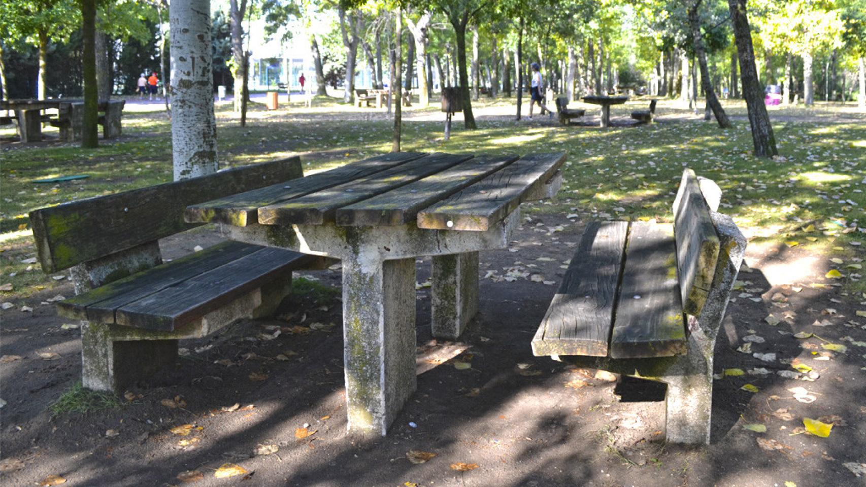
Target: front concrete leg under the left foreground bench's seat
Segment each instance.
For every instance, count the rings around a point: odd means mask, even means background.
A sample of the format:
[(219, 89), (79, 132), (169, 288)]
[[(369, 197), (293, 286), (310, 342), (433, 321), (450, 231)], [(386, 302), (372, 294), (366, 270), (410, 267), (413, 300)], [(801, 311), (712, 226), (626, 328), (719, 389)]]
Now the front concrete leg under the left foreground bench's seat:
[(81, 383), (120, 394), (178, 357), (178, 340), (115, 341), (107, 324), (81, 324)]

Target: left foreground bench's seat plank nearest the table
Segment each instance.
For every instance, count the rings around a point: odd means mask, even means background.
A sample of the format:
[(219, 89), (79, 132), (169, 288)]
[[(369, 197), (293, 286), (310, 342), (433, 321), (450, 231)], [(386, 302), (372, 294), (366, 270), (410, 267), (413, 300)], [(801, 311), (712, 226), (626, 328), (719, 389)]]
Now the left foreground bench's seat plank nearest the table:
[(115, 311), (118, 324), (171, 331), (272, 279), (280, 279), (303, 262), (304, 255), (264, 248), (154, 292)]

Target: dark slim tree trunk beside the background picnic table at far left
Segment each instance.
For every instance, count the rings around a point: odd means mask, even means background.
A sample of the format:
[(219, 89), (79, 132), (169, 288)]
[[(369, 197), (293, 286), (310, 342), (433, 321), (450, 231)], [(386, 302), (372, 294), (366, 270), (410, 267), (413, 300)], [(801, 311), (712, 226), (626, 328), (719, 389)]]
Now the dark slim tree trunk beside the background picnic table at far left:
[[(81, 121), (81, 147), (99, 147), (99, 93), (96, 92), (96, 0), (81, 0), (81, 70), (84, 84), (84, 119)], [(47, 36), (46, 36), (47, 37)], [(42, 56), (40, 35), (40, 56)], [(46, 41), (47, 43), (47, 41)], [(42, 59), (39, 61), (42, 68)], [(44, 93), (43, 93), (44, 94)]]

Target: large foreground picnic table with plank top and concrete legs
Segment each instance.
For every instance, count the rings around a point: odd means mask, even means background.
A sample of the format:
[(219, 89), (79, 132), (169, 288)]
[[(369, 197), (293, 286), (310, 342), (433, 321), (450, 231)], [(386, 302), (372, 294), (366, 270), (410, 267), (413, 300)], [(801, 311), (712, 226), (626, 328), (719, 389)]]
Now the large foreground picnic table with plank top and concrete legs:
[(231, 240), (335, 257), (343, 268), (350, 432), (385, 435), (416, 388), (415, 260), (432, 256), (433, 335), (478, 307), (478, 252), (507, 247), (520, 203), (556, 193), (564, 153), (395, 152), (187, 207)]

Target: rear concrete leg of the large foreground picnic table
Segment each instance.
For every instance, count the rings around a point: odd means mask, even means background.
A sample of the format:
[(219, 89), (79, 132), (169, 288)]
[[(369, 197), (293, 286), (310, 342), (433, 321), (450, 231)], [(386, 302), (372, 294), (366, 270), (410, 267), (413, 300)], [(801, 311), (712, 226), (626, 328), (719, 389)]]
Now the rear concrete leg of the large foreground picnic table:
[(433, 257), (432, 331), (456, 340), (478, 312), (478, 253)]

